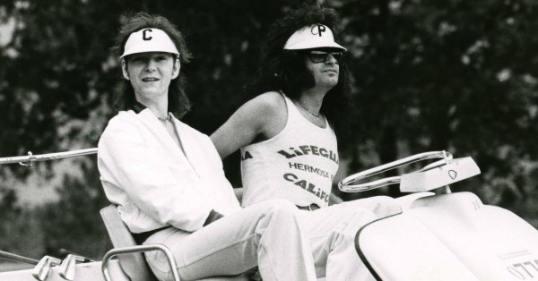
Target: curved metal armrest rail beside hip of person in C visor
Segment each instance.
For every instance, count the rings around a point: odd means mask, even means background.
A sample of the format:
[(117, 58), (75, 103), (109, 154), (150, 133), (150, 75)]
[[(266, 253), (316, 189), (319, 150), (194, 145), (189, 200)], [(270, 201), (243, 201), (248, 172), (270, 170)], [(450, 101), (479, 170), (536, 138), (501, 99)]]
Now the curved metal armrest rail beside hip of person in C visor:
[(105, 277), (105, 280), (107, 281), (112, 280), (112, 278), (110, 277), (110, 274), (108, 273), (108, 261), (110, 261), (110, 259), (121, 254), (143, 252), (143, 251), (163, 251), (166, 254), (166, 257), (168, 258), (169, 266), (172, 270), (172, 275), (174, 276), (174, 280), (179, 281), (178, 266), (176, 265), (176, 260), (174, 259), (174, 255), (169, 250), (169, 248), (161, 244), (147, 244), (147, 245), (139, 245), (139, 246), (131, 246), (131, 247), (122, 247), (122, 248), (115, 248), (110, 251), (107, 251), (107, 253), (103, 257), (103, 262), (101, 264), (101, 271), (103, 272), (103, 276)]

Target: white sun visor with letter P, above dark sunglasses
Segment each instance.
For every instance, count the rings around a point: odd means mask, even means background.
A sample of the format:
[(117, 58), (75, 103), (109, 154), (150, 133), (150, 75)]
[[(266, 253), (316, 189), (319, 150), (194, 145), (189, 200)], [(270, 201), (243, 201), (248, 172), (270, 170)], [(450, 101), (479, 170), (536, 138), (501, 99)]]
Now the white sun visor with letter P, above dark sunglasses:
[(334, 42), (333, 31), (323, 24), (312, 24), (295, 31), (284, 45), (285, 50), (303, 50), (315, 47), (334, 47), (347, 51)]

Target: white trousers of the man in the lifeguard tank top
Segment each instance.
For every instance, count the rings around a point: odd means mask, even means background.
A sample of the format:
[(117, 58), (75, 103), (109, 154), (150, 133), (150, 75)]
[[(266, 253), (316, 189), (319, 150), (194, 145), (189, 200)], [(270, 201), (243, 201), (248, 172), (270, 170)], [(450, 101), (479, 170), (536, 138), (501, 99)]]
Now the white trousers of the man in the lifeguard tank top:
[(317, 277), (326, 281), (375, 280), (355, 250), (355, 236), (369, 222), (401, 211), (399, 204), (386, 196), (346, 201), (315, 211), (298, 210), (312, 247)]

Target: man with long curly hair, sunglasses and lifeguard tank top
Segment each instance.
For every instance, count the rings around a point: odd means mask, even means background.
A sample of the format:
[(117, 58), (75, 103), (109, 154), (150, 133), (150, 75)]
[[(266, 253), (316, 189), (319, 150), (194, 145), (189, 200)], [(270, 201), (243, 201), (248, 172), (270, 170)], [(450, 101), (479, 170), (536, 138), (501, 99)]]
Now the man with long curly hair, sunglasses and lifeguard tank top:
[(373, 279), (355, 251), (361, 226), (399, 213), (378, 196), (329, 206), (339, 157), (334, 129), (349, 104), (345, 47), (333, 9), (303, 4), (273, 24), (250, 99), (211, 139), (221, 158), (241, 149), (242, 205), (291, 200), (309, 235), (317, 277)]

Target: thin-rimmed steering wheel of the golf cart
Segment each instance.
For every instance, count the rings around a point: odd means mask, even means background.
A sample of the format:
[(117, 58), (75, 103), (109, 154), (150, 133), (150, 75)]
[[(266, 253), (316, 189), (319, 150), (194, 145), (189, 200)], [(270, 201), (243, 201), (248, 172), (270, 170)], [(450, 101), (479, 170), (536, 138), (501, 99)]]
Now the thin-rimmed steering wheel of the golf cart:
[(445, 150), (415, 154), (413, 156), (402, 158), (402, 159), (387, 163), (385, 165), (370, 168), (368, 170), (362, 171), (354, 175), (349, 175), (343, 178), (343, 180), (338, 183), (338, 189), (340, 189), (342, 192), (366, 192), (366, 191), (373, 190), (382, 186), (400, 183), (401, 178), (402, 178), (401, 175), (386, 177), (386, 178), (369, 182), (369, 183), (357, 183), (357, 182), (369, 176), (384, 173), (388, 170), (397, 168), (399, 166), (409, 165), (411, 163), (418, 162), (421, 160), (437, 159), (437, 158), (441, 158), (442, 160), (439, 160), (439, 161), (431, 163), (430, 165), (424, 166), (416, 172), (425, 172), (430, 169), (436, 168), (438, 166), (447, 165), (448, 161), (452, 160), (453, 157), (452, 157), (452, 154), (450, 154), (449, 152)]

